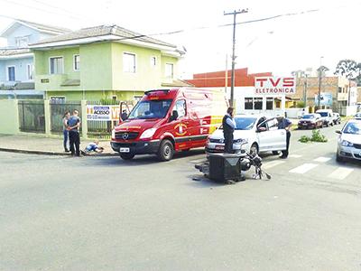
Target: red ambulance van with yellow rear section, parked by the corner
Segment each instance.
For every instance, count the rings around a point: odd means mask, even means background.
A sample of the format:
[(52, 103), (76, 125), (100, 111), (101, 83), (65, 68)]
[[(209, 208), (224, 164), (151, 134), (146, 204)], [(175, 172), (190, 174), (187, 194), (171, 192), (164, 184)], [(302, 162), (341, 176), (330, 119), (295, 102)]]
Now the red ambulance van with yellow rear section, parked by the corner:
[(169, 161), (175, 152), (204, 147), (226, 111), (221, 90), (145, 91), (126, 120), (113, 129), (110, 145), (124, 160), (156, 154), (161, 161)]

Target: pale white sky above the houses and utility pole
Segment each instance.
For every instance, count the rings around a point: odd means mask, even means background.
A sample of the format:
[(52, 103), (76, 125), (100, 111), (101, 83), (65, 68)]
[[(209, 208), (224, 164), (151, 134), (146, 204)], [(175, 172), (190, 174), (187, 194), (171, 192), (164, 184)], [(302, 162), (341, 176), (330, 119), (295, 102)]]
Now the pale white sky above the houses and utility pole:
[(190, 79), (231, 69), (233, 26), (222, 25), (233, 23), (233, 16), (224, 12), (242, 9), (248, 13), (236, 16), (236, 69), (289, 76), (322, 64), (330, 75), (340, 60), (361, 61), (360, 0), (0, 0), (0, 32), (12, 18), (73, 30), (117, 24), (184, 46), (180, 77)]

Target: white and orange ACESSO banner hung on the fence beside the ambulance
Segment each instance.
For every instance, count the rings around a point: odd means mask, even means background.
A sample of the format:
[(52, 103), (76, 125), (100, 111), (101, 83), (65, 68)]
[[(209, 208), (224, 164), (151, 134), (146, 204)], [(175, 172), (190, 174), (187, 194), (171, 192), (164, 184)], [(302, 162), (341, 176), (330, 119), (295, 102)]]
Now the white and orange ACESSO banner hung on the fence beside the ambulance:
[(87, 105), (87, 120), (97, 121), (117, 121), (119, 120), (120, 107), (115, 106), (101, 106), (101, 105)]

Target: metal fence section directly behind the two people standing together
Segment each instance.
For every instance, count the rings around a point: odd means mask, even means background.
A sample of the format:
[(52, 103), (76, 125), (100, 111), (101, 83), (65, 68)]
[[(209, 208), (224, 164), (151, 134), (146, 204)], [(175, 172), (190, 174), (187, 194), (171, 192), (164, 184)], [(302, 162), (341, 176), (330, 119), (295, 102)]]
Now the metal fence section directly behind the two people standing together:
[[(62, 119), (66, 111), (70, 114), (74, 109), (79, 111), (79, 117), (81, 118), (81, 102), (80, 101), (68, 101), (67, 103), (54, 103), (50, 104), (51, 109), (51, 134), (62, 134)], [(86, 116), (84, 116), (86, 121)], [(81, 131), (81, 126), (80, 126)]]

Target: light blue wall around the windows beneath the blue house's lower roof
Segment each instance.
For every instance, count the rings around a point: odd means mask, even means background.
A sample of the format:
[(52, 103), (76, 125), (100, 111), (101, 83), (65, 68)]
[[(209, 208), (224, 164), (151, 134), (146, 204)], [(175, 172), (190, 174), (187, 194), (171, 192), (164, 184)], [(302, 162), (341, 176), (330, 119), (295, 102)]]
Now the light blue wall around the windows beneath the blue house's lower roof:
[(16, 81), (29, 81), (27, 77), (27, 64), (32, 64), (33, 59), (10, 59), (0, 60), (0, 81), (7, 81), (7, 66), (15, 66), (15, 80)]

